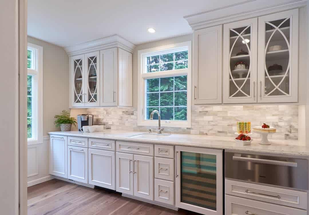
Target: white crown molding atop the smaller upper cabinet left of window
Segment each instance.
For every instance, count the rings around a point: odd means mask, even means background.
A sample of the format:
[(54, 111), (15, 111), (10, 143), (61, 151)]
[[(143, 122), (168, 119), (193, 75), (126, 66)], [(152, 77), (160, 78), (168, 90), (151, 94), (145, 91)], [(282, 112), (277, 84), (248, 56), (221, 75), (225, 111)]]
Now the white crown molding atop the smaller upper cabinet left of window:
[(67, 46), (64, 49), (69, 56), (74, 56), (115, 47), (133, 53), (135, 45), (128, 40), (125, 40), (121, 36), (115, 34), (112, 36), (102, 37), (97, 40), (91, 40), (88, 42)]

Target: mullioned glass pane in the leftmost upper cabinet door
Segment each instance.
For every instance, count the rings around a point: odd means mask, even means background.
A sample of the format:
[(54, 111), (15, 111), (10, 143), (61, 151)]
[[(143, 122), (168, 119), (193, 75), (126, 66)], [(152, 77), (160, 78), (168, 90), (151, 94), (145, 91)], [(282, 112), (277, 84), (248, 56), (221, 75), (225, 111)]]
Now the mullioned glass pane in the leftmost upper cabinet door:
[(82, 59), (74, 60), (74, 103), (83, 103)]

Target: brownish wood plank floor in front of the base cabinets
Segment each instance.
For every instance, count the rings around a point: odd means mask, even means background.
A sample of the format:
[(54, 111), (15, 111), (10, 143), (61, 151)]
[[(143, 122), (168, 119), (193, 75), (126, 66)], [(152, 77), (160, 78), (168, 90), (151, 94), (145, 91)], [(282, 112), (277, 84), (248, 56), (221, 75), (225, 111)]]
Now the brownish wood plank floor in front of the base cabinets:
[(198, 215), (53, 179), (28, 188), (28, 215)]

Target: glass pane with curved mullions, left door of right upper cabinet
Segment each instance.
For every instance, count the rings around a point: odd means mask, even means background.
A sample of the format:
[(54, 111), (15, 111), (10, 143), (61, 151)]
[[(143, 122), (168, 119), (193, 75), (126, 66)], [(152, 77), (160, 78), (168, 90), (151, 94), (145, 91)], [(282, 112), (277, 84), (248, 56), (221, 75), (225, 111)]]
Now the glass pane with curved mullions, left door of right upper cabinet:
[(251, 25), (231, 28), (229, 98), (251, 97)]

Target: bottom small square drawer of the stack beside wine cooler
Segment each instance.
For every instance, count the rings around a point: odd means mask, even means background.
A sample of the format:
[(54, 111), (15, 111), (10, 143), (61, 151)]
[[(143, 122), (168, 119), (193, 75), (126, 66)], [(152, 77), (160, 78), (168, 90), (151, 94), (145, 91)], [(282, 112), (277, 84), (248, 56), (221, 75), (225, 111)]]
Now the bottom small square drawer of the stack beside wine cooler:
[(155, 201), (174, 205), (174, 182), (155, 179)]

